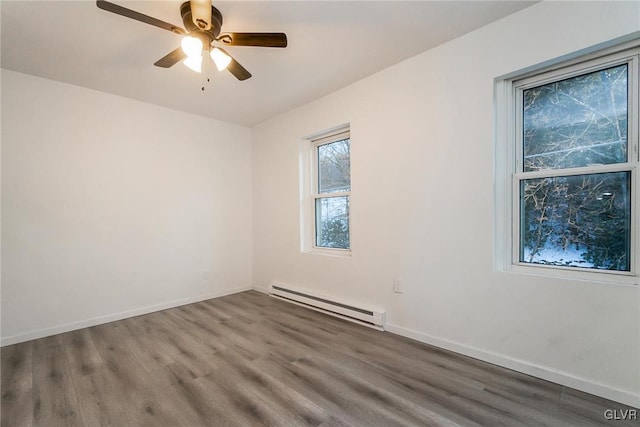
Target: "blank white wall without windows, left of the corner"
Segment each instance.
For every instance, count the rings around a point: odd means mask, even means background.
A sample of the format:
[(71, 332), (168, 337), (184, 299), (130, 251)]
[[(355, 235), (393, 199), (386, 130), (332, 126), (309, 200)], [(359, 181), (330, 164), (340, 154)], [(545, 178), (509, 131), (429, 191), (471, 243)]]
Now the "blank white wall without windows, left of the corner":
[(3, 344), (251, 287), (250, 129), (7, 70), (2, 105)]

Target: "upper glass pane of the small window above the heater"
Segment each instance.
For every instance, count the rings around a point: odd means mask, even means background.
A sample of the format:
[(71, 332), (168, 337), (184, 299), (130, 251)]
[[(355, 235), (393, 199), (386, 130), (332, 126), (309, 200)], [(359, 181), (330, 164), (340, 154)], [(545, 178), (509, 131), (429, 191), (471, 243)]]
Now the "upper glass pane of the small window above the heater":
[(318, 193), (351, 191), (351, 140), (318, 146)]

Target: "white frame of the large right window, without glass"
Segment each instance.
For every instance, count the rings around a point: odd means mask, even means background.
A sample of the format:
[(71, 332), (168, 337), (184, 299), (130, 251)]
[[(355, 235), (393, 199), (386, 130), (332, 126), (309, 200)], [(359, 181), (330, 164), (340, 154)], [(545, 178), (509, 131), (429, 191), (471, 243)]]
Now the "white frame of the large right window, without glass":
[[(628, 64), (627, 162), (611, 165), (547, 169), (524, 172), (522, 164), (523, 91), (589, 72)], [(640, 212), (638, 212), (638, 144), (640, 122), (640, 41), (621, 44), (534, 71), (526, 71), (495, 81), (496, 108), (496, 268), (501, 271), (558, 278), (638, 284)], [(606, 172), (631, 174), (630, 271), (597, 270), (520, 262), (520, 183), (524, 179), (574, 176)]]

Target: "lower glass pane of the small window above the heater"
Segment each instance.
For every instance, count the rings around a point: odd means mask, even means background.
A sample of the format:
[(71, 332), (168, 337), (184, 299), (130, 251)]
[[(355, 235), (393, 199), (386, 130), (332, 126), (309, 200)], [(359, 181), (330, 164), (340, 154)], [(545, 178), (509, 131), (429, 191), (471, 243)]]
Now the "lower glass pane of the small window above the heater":
[(316, 199), (316, 246), (349, 249), (349, 197)]

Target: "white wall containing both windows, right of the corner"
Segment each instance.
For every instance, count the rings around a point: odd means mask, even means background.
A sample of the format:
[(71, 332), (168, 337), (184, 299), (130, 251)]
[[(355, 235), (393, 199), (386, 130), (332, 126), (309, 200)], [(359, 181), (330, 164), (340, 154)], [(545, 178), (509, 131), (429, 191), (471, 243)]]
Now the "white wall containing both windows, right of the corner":
[[(391, 331), (640, 405), (638, 286), (493, 269), (494, 78), (638, 30), (639, 2), (541, 3), (254, 128), (256, 289), (382, 306)], [(300, 253), (298, 144), (343, 123), (353, 256)]]

